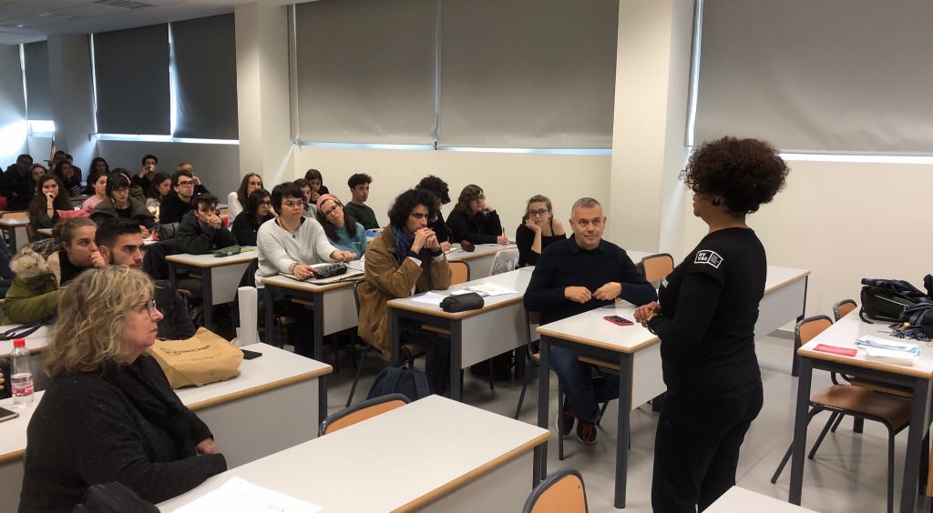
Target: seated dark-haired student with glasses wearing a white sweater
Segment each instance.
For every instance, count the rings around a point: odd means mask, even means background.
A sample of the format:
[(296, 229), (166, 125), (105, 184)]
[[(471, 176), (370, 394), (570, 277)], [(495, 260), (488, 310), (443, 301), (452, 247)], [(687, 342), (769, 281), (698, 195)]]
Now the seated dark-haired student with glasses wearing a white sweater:
[[(259, 268), (256, 272), (256, 287), (262, 290), (263, 301), (273, 301), (262, 286), (263, 277), (279, 273), (293, 275), (298, 279), (314, 276), (313, 263), (350, 261), (356, 258), (351, 251), (334, 248), (320, 223), (304, 217), (304, 200), (297, 185), (285, 182), (272, 189), (272, 207), (279, 217), (262, 223), (257, 233)], [(303, 311), (300, 304), (288, 303), (288, 317), (298, 319), (298, 329), (289, 331), (295, 352), (313, 358), (313, 316)]]

